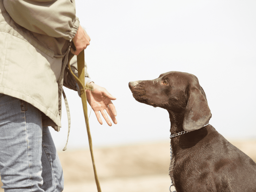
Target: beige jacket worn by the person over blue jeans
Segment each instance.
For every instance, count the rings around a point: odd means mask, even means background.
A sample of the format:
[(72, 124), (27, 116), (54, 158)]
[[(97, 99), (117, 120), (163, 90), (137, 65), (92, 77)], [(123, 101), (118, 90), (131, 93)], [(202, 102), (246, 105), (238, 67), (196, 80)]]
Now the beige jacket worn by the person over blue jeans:
[(76, 90), (66, 65), (78, 26), (75, 0), (0, 0), (0, 93), (38, 108), (56, 131), (62, 85)]

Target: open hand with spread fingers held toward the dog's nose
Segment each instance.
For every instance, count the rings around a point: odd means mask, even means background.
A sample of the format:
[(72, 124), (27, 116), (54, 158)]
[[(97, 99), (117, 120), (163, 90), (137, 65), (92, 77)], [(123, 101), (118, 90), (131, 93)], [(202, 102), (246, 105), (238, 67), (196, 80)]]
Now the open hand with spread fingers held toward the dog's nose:
[[(91, 105), (92, 110), (94, 111), (98, 121), (102, 124), (102, 120), (100, 118), (100, 113), (106, 120), (107, 124), (111, 126), (111, 122), (108, 119), (108, 116), (104, 109), (106, 109), (108, 115), (111, 117), (114, 124), (117, 124), (116, 121), (116, 108), (111, 100), (116, 100), (105, 88), (100, 87), (99, 85), (90, 83), (93, 87), (93, 91), (86, 90), (86, 98), (88, 103)], [(100, 113), (99, 113), (100, 111)]]

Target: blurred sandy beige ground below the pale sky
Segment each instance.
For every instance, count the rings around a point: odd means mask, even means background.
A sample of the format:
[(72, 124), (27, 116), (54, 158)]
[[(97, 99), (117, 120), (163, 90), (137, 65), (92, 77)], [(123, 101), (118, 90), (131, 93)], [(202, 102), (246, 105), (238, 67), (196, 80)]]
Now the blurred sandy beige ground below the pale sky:
[[(256, 140), (230, 142), (256, 161)], [(102, 192), (169, 191), (169, 140), (93, 150)], [(65, 176), (63, 192), (97, 192), (89, 149), (58, 153)]]

